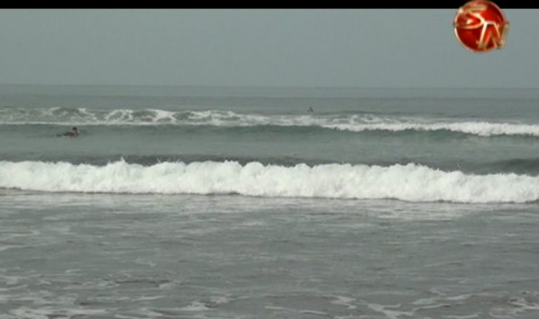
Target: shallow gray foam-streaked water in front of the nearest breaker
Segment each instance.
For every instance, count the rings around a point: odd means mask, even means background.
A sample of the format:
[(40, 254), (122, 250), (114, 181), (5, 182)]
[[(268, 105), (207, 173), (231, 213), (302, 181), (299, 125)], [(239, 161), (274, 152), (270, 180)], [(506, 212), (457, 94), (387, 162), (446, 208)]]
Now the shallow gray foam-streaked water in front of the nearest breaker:
[(534, 210), (8, 191), (0, 204), (0, 311), (3, 318), (536, 318)]

